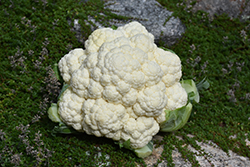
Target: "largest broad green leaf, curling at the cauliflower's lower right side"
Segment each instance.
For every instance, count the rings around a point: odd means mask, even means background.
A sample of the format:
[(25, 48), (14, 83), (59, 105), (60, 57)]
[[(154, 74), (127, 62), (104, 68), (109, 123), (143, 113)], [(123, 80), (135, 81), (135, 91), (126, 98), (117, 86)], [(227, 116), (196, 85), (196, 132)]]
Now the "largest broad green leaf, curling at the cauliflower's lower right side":
[(165, 110), (166, 121), (160, 124), (160, 131), (172, 132), (182, 128), (188, 121), (192, 111), (192, 104), (178, 108), (174, 111)]

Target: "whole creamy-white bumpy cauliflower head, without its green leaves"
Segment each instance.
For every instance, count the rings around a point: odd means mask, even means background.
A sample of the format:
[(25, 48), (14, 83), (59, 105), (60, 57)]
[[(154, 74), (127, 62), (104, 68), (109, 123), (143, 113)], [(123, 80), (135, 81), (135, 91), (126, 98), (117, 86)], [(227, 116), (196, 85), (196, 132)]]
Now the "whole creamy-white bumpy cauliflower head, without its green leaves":
[(69, 85), (58, 102), (67, 125), (142, 148), (160, 130), (164, 110), (186, 105), (179, 57), (158, 48), (140, 23), (97, 29), (85, 47), (58, 63)]

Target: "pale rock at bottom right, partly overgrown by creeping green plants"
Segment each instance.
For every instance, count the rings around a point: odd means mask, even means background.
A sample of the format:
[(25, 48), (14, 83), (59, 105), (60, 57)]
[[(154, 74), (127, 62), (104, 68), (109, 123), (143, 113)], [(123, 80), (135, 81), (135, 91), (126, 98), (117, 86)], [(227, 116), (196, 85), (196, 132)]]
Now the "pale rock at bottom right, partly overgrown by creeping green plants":
[[(189, 135), (192, 137), (192, 135)], [(161, 136), (156, 135), (154, 136), (154, 140), (161, 140)], [(178, 137), (181, 139), (180, 137)], [(250, 142), (246, 141), (247, 146), (250, 146)], [(220, 149), (215, 143), (209, 141), (208, 144), (197, 142), (201, 149), (204, 150), (210, 157), (207, 157), (208, 160), (204, 156), (196, 156), (197, 161), (199, 162), (201, 167), (250, 167), (250, 160), (247, 157), (239, 156), (236, 153), (229, 151), (229, 155)], [(188, 149), (192, 152), (197, 152), (193, 147), (190, 145)], [(157, 164), (157, 160), (160, 160), (161, 153), (163, 152), (163, 146), (155, 148), (152, 155), (145, 158), (144, 161), (147, 164), (147, 167), (153, 167)], [(198, 152), (197, 152), (198, 153)], [(181, 154), (179, 153), (178, 149), (174, 149), (172, 152), (173, 163), (176, 167), (192, 167), (192, 164), (189, 161), (185, 161), (182, 158)], [(167, 167), (167, 161), (163, 160), (161, 163), (158, 164), (157, 167)]]

